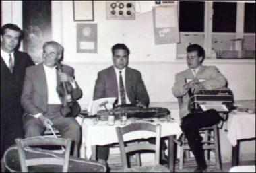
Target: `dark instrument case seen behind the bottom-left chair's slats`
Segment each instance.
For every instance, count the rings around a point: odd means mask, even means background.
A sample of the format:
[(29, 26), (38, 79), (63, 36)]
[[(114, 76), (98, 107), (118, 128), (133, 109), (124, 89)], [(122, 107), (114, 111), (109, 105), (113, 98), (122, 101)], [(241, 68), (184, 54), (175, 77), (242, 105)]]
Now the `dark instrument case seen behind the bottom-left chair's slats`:
[[(63, 154), (39, 148), (26, 148), (26, 158), (63, 158)], [(12, 145), (5, 151), (1, 160), (1, 172), (22, 172), (17, 145)], [(49, 160), (51, 162), (51, 160)], [(62, 166), (40, 165), (28, 168), (30, 172), (61, 172)], [(107, 172), (106, 162), (86, 160), (83, 158), (69, 157), (68, 172)]]

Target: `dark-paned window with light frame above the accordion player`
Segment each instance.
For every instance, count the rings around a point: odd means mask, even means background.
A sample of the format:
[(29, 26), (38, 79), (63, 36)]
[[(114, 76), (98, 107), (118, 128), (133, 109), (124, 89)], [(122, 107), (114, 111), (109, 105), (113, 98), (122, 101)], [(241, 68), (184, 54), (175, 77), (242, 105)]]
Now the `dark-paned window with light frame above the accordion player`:
[(255, 3), (179, 1), (179, 30), (177, 59), (194, 43), (206, 59), (255, 59)]

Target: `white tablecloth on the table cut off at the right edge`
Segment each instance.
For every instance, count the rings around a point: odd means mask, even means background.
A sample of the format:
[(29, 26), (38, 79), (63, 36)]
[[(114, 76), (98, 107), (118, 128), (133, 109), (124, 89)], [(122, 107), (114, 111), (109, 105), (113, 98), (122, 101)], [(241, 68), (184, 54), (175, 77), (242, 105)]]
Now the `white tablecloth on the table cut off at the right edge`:
[(239, 139), (250, 139), (255, 137), (255, 113), (237, 112), (230, 113), (228, 123), (228, 140), (236, 146)]

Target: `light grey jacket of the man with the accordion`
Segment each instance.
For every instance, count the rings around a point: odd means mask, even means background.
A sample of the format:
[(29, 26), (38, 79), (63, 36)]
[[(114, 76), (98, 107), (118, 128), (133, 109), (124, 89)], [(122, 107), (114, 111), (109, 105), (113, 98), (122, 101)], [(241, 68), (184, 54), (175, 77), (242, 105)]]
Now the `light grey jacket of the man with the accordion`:
[(177, 98), (182, 98), (183, 103), (180, 108), (180, 117), (183, 118), (189, 114), (189, 94), (182, 90), (183, 85), (185, 85), (185, 79), (206, 79), (202, 82), (204, 88), (208, 90), (213, 90), (215, 88), (222, 88), (226, 86), (226, 79), (220, 73), (220, 71), (215, 66), (203, 66), (201, 65), (197, 75), (194, 76), (191, 69), (177, 73), (175, 77), (175, 83), (172, 87), (172, 93)]

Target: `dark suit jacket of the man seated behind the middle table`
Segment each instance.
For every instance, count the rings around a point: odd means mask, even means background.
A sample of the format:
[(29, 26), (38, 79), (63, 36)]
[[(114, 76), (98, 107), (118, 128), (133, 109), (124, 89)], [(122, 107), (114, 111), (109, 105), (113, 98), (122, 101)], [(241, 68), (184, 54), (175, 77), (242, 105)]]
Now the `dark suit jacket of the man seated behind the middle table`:
[[(148, 106), (150, 99), (139, 71), (126, 67), (125, 89), (131, 104), (143, 102)], [(107, 97), (118, 98), (117, 77), (113, 66), (110, 66), (98, 73), (98, 78), (96, 79), (94, 87), (93, 100)]]

